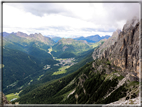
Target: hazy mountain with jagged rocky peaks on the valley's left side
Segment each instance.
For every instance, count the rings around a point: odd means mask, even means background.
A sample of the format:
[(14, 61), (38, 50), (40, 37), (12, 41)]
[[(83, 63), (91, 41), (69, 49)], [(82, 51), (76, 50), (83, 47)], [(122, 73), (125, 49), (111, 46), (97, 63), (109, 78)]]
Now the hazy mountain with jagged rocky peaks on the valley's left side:
[(53, 60), (52, 55), (48, 53), (48, 49), (53, 44), (54, 41), (41, 34), (27, 35), (22, 32), (17, 32), (3, 38), (4, 47), (25, 52), (41, 62), (46, 59)]

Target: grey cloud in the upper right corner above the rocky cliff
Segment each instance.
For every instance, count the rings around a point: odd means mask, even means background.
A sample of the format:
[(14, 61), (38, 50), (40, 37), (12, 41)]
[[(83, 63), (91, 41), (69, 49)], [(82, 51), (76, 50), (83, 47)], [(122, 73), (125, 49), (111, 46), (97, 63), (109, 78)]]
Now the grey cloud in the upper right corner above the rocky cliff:
[(111, 21), (129, 20), (134, 16), (139, 17), (139, 3), (105, 3)]

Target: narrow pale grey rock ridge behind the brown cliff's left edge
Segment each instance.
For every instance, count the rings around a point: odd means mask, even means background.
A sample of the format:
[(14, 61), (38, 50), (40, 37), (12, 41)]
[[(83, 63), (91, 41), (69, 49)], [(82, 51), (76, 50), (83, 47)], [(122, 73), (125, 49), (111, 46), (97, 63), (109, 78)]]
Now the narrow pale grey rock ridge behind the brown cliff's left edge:
[(93, 59), (97, 59), (99, 58), (102, 53), (108, 48), (110, 47), (111, 45), (113, 45), (115, 43), (115, 41), (117, 40), (118, 38), (118, 35), (120, 33), (120, 29), (117, 29), (115, 32), (113, 32), (112, 36), (108, 39), (106, 39), (106, 41), (97, 49), (94, 50), (93, 54), (92, 54), (92, 57)]

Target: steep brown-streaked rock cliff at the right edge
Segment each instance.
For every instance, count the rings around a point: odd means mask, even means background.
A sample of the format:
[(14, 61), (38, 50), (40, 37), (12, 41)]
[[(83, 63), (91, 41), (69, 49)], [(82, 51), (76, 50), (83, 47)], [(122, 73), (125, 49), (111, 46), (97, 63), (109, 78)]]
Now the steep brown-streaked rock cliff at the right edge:
[[(130, 23), (131, 22), (131, 23)], [(128, 21), (114, 45), (107, 48), (101, 58), (108, 58), (122, 69), (125, 76), (130, 73), (130, 81), (138, 81), (139, 75), (139, 22)]]

